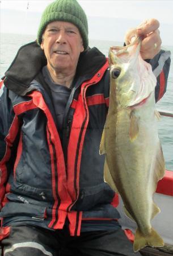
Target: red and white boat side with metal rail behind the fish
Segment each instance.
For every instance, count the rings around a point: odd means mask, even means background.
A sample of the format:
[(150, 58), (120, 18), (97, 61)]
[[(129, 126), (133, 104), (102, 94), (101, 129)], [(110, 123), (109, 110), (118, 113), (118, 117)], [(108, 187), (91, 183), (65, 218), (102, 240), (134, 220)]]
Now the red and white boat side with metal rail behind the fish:
[[(173, 118), (173, 112), (159, 110), (159, 113), (163, 117)], [(119, 201), (117, 209), (121, 215), (120, 225), (129, 240), (133, 242), (137, 225), (125, 215), (120, 195), (117, 200)], [(163, 247), (146, 246), (140, 250), (140, 253), (144, 256), (170, 256), (173, 255), (173, 170), (166, 170), (163, 179), (159, 180), (157, 190), (154, 193), (154, 202), (161, 209), (161, 212), (154, 217), (151, 224), (161, 235), (165, 245)]]

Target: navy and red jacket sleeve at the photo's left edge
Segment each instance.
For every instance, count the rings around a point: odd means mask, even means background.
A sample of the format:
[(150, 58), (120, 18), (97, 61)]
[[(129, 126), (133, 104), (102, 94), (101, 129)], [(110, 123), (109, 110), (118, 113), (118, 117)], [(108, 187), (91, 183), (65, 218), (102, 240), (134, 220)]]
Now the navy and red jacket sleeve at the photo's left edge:
[(5, 186), (7, 183), (8, 172), (11, 159), (12, 147), (18, 134), (19, 121), (15, 115), (9, 90), (3, 88), (0, 98), (0, 205), (5, 195)]

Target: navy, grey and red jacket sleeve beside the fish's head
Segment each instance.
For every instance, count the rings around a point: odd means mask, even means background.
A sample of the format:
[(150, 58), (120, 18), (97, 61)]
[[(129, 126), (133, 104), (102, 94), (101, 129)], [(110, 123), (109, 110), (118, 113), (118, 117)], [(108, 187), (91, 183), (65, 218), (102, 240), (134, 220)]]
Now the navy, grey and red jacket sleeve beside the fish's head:
[(153, 73), (157, 78), (155, 86), (155, 102), (159, 101), (166, 92), (168, 73), (170, 71), (171, 52), (161, 50), (153, 59), (146, 60), (151, 64)]

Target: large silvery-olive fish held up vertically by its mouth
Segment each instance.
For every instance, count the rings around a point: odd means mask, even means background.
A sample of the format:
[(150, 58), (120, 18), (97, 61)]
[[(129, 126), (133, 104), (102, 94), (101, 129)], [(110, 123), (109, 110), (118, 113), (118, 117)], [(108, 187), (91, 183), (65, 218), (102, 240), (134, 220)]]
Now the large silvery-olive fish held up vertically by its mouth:
[(120, 194), (125, 214), (137, 224), (134, 251), (164, 246), (151, 226), (160, 212), (153, 195), (165, 171), (155, 108), (157, 80), (140, 48), (141, 38), (109, 48), (109, 108), (99, 151), (105, 154), (104, 180)]

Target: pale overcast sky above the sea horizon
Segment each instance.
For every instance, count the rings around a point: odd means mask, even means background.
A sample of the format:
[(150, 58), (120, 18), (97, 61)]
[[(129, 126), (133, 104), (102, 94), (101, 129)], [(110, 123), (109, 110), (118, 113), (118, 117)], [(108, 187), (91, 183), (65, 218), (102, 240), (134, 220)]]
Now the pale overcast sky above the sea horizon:
[[(37, 34), (41, 12), (52, 0), (0, 0), (0, 32)], [(160, 22), (162, 42), (173, 46), (173, 1), (78, 0), (88, 17), (89, 38), (123, 41), (125, 32), (148, 18)], [(28, 7), (28, 9), (27, 9)]]

